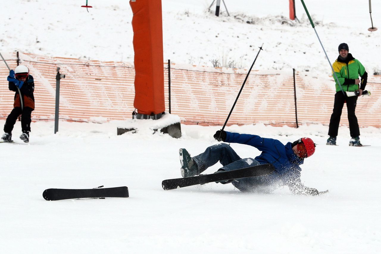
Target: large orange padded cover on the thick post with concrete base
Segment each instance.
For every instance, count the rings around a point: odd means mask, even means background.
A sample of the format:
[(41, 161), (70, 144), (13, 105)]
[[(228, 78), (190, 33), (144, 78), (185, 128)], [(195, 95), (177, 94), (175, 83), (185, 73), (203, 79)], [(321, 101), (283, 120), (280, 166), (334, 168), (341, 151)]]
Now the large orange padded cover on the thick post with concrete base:
[(133, 13), (135, 99), (138, 113), (165, 111), (161, 0), (130, 1)]

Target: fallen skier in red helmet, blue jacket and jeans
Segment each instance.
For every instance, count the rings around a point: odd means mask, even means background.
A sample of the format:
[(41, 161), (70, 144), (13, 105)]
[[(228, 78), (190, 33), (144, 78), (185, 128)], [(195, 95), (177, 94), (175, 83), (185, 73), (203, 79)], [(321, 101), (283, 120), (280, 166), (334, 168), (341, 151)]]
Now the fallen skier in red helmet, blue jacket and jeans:
[(224, 181), (222, 184), (232, 183), (242, 192), (269, 193), (282, 185), (287, 185), (294, 194), (319, 195), (319, 191), (303, 185), (300, 180), (301, 168), (304, 158), (315, 152), (312, 139), (303, 137), (293, 143), (283, 145), (279, 140), (263, 138), (251, 134), (230, 133), (217, 131), (213, 136), (217, 141), (246, 144), (262, 151), (261, 155), (253, 158), (240, 158), (230, 145), (221, 143), (208, 147), (205, 152), (191, 157), (186, 149), (180, 149), (182, 177), (196, 176), (218, 161), (223, 165), (216, 173), (247, 168), (255, 165), (271, 164), (275, 171), (269, 175), (247, 177)]

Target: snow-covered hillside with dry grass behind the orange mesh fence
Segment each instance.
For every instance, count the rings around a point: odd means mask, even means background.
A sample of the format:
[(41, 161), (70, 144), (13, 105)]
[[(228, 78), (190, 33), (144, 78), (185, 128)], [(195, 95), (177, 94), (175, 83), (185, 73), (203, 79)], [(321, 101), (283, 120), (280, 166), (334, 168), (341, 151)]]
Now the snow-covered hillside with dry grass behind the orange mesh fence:
[[(288, 1), (226, 0), (216, 17), (215, 4), (207, 0), (163, 0), (164, 60), (178, 64), (250, 67), (264, 43), (255, 69), (292, 69), (330, 74), (322, 47), (300, 1), (298, 21), (288, 19)], [(330, 61), (338, 45), (367, 68), (381, 73), (378, 58), (380, 32), (371, 26), (368, 1), (305, 1)], [(89, 13), (81, 1), (15, 0), (2, 3), (0, 46), (2, 51), (22, 51), (104, 61), (133, 62), (132, 11), (128, 1), (90, 0)], [(222, 4), (222, 2), (221, 2)], [(381, 26), (381, 2), (372, 3), (373, 22)]]

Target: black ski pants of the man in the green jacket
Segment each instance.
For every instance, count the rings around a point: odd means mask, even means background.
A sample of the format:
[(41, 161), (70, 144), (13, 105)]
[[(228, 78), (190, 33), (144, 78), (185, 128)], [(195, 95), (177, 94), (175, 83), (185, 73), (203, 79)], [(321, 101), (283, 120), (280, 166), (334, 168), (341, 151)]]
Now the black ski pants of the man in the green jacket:
[(336, 137), (339, 131), (341, 112), (343, 111), (344, 103), (347, 102), (349, 131), (351, 137), (360, 136), (359, 123), (355, 115), (356, 103), (358, 96), (346, 96), (343, 92), (339, 91), (335, 94), (335, 102), (333, 104), (333, 113), (330, 120), (330, 128), (328, 135)]

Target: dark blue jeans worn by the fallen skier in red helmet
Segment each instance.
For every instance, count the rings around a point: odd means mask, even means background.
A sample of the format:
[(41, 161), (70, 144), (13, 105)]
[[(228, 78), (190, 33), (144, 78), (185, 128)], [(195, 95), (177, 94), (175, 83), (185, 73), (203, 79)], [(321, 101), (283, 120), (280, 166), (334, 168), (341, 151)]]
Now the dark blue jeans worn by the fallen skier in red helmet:
[[(199, 167), (200, 173), (215, 165), (218, 161), (223, 165), (221, 169), (226, 171), (259, 165), (259, 162), (253, 158), (241, 159), (230, 145), (225, 143), (212, 145), (205, 152), (192, 157), (192, 159)], [(269, 187), (269, 179), (267, 177), (247, 177), (235, 180), (232, 184), (243, 192), (255, 191), (256, 189), (261, 189), (261, 191), (273, 190), (269, 189), (271, 187)]]

